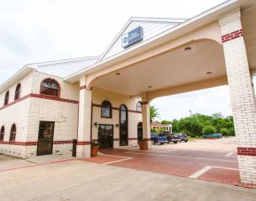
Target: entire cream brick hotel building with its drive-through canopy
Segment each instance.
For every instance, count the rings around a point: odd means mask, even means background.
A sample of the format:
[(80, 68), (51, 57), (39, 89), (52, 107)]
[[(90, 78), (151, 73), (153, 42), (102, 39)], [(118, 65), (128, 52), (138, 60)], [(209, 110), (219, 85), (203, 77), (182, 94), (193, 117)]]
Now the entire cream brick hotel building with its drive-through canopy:
[[(100, 57), (31, 64), (0, 88), (0, 152), (21, 158), (151, 148), (156, 97), (229, 85), (241, 182), (256, 184), (256, 3), (192, 19), (131, 18)], [(155, 77), (161, 77), (156, 80)]]

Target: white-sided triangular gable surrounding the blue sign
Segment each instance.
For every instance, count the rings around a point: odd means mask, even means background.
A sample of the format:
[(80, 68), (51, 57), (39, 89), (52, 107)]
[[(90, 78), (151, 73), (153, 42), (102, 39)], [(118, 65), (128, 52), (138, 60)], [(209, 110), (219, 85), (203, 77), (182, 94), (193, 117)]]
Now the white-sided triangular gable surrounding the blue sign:
[(128, 50), (132, 46), (124, 49), (122, 48), (121, 39), (122, 35), (126, 35), (131, 30), (136, 27), (142, 27), (144, 31), (144, 39), (139, 43), (144, 43), (152, 37), (159, 35), (168, 29), (175, 27), (181, 24), (186, 19), (161, 19), (161, 18), (131, 18), (128, 20), (128, 23), (123, 27), (120, 33), (114, 38), (111, 45), (105, 50), (105, 53), (99, 58), (98, 61), (111, 58), (114, 55), (117, 55), (125, 50)]

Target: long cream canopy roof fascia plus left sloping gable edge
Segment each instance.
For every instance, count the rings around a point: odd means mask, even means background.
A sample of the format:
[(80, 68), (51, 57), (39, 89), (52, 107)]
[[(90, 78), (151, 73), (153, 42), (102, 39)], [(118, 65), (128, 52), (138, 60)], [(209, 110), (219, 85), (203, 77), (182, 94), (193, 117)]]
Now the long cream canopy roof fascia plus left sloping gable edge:
[[(207, 24), (212, 23), (213, 21), (219, 20), (219, 17), (221, 15), (230, 12), (234, 9), (237, 9), (237, 7), (239, 6), (242, 6), (243, 8), (248, 7), (251, 4), (254, 4), (252, 0), (228, 0), (222, 4), (214, 6), (212, 9), (207, 10), (206, 12), (198, 14), (197, 16), (191, 19), (184, 20), (182, 23), (179, 23), (174, 27), (170, 27), (169, 29), (160, 33), (159, 35), (151, 37), (144, 43), (137, 43), (136, 45), (133, 45), (132, 47), (128, 48), (128, 50), (121, 51), (110, 58), (103, 59), (106, 54), (104, 53), (95, 65), (89, 66), (87, 69), (83, 69), (80, 72), (74, 73), (66, 77), (65, 80), (71, 82), (78, 81), (81, 76), (84, 76), (89, 73), (95, 73), (99, 70), (105, 69), (108, 66), (118, 64), (121, 61), (126, 60), (128, 58), (133, 58), (141, 52), (152, 50), (154, 47), (158, 47), (160, 44), (167, 43), (171, 40), (175, 40), (175, 38), (178, 38), (181, 35), (186, 35), (191, 31), (194, 31), (200, 27), (204, 27)], [(125, 27), (127, 26), (128, 24)], [(122, 31), (125, 29), (125, 27), (122, 29)], [(122, 31), (118, 36), (121, 35)], [(110, 47), (112, 47), (112, 45)]]

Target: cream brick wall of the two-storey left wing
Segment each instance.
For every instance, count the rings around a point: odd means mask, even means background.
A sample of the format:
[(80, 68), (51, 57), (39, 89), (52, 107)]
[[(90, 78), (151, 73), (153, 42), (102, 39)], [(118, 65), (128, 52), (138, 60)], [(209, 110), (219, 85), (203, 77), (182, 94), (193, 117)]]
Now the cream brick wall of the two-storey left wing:
[[(14, 84), (10, 89), (10, 101), (14, 100), (14, 92), (18, 83), (21, 84), (21, 98), (29, 94), (40, 94), (40, 84), (45, 78), (58, 81), (61, 92), (60, 98), (78, 101), (79, 86), (63, 81), (61, 78), (45, 73), (33, 72)], [(0, 101), (4, 104), (5, 91)], [(9, 142), (12, 124), (17, 127), (15, 142), (37, 142), (39, 122), (55, 121), (54, 141), (70, 141), (77, 136), (78, 104), (59, 102), (37, 97), (27, 97), (18, 103), (0, 110), (0, 127), (4, 125), (4, 142)], [(18, 157), (33, 157), (37, 146), (20, 146), (1, 144), (0, 152)], [(53, 154), (66, 154), (72, 150), (72, 143), (54, 144)]]

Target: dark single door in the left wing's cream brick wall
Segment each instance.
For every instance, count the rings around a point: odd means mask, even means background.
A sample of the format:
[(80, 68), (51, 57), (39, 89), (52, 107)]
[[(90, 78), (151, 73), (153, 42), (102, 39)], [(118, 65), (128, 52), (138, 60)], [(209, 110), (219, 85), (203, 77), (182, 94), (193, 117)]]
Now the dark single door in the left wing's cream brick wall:
[(54, 122), (41, 121), (37, 143), (37, 156), (52, 154)]

